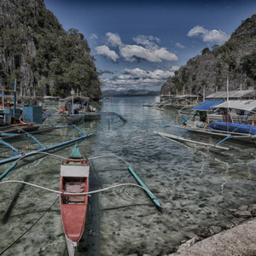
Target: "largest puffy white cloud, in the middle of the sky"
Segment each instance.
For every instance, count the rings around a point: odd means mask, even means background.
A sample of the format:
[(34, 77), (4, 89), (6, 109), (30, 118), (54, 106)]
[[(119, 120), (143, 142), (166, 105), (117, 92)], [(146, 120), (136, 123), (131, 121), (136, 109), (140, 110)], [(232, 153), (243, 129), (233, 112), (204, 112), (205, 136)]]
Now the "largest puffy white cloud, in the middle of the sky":
[(143, 59), (150, 62), (177, 61), (177, 55), (172, 54), (166, 48), (148, 49), (139, 45), (126, 44), (119, 48), (120, 55), (125, 61), (137, 61)]

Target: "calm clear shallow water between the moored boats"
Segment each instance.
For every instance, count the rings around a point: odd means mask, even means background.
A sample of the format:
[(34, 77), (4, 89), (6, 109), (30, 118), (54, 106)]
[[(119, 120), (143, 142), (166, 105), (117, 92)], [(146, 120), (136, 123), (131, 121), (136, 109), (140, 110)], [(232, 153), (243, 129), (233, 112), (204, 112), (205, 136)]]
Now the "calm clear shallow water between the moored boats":
[[(223, 151), (163, 139), (154, 131), (167, 124), (181, 124), (181, 119), (171, 109), (143, 107), (143, 103), (153, 100), (103, 100), (103, 108), (120, 113), (128, 122), (123, 124), (117, 117), (106, 116), (79, 125), (86, 133), (96, 134), (79, 143), (79, 147), (91, 159), (91, 190), (136, 183), (125, 160), (159, 199), (163, 214), (136, 187), (118, 187), (92, 195), (78, 255), (166, 255), (200, 227), (232, 224), (228, 209), (255, 203), (255, 147), (225, 143), (232, 149)], [(60, 121), (48, 120), (65, 124)], [(166, 131), (177, 135), (183, 132), (173, 127)], [(77, 131), (64, 129), (37, 138), (49, 146), (77, 135)], [(208, 137), (201, 137), (201, 141), (218, 142)], [(28, 146), (38, 148), (32, 141), (15, 140), (15, 147), (20, 150), (26, 151)], [(72, 148), (50, 153), (67, 157)], [(3, 146), (0, 150), (1, 159), (9, 154)], [(4, 180), (19, 179), (58, 189), (60, 164), (61, 159), (52, 156), (26, 158)], [(0, 166), (1, 173), (9, 166)], [(1, 185), (0, 196), (0, 253), (57, 199), (55, 194), (16, 183)], [(3, 255), (67, 255), (59, 201)]]

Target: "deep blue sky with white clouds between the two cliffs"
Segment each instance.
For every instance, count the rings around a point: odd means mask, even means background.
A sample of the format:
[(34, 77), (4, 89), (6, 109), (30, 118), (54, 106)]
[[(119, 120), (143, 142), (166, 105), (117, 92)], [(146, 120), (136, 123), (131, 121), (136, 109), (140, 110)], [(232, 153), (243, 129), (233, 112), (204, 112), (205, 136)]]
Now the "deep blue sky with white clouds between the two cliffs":
[(63, 29), (79, 30), (102, 90), (160, 90), (205, 48), (222, 45), (255, 0), (44, 0)]

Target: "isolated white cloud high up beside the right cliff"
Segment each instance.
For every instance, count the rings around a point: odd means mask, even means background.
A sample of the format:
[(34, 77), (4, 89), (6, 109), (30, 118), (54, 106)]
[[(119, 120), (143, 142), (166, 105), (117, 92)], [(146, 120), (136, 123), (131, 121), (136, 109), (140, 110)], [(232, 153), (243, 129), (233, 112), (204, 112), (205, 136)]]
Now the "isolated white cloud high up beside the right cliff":
[(230, 35), (221, 30), (207, 30), (202, 26), (194, 26), (188, 33), (189, 37), (201, 36), (204, 42), (224, 44)]

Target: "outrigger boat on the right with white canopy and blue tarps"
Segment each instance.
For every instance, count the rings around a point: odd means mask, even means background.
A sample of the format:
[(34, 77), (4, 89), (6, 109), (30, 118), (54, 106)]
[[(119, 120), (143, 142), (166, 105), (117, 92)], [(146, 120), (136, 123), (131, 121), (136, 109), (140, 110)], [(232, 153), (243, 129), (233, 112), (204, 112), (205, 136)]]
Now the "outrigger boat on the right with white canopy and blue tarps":
[[(210, 103), (203, 103), (205, 107), (209, 107)], [(174, 126), (182, 129), (186, 129), (183, 134), (177, 136), (166, 132), (160, 131), (156, 132), (161, 137), (166, 137), (172, 140), (183, 143), (197, 143), (214, 148), (229, 149), (219, 146), (220, 143), (228, 139), (241, 141), (244, 143), (256, 143), (256, 127), (255, 116), (256, 116), (256, 101), (227, 101), (214, 105), (212, 102), (212, 108), (224, 109), (223, 121), (210, 122), (207, 119), (207, 108), (203, 109), (203, 104), (194, 108), (194, 110), (201, 110), (203, 114), (198, 114), (198, 119), (195, 118), (195, 114), (190, 118), (186, 118), (182, 115), (183, 125), (166, 125), (162, 129), (168, 126)], [(230, 109), (236, 109), (241, 111), (241, 115), (230, 114)], [(221, 141), (216, 144), (201, 143), (188, 138), (184, 138), (183, 135), (187, 132), (197, 132), (206, 135), (211, 135), (214, 137), (221, 137)]]

